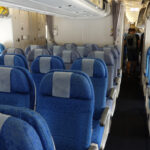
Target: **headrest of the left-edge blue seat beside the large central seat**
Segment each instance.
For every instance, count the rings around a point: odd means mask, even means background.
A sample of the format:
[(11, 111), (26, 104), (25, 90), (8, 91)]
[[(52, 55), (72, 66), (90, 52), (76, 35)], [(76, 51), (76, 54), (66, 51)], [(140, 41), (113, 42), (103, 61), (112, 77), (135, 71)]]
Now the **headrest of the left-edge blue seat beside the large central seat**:
[(0, 92), (28, 93), (30, 86), (23, 71), (17, 67), (0, 67)]

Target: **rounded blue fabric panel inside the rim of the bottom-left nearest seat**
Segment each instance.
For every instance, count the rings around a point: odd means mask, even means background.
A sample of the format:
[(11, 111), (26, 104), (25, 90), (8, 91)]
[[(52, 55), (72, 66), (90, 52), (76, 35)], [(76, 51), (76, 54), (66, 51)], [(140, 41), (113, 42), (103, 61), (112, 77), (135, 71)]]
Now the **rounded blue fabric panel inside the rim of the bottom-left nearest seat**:
[(43, 150), (34, 128), (15, 117), (10, 117), (4, 123), (0, 132), (0, 147), (2, 150)]

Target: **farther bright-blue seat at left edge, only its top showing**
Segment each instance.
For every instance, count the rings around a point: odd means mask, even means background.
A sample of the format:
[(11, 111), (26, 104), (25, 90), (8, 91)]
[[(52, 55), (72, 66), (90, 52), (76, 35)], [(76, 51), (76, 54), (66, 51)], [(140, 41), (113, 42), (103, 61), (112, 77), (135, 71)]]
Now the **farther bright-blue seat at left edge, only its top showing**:
[(28, 69), (26, 58), (19, 54), (5, 54), (0, 56), (0, 65), (12, 67), (18, 66)]

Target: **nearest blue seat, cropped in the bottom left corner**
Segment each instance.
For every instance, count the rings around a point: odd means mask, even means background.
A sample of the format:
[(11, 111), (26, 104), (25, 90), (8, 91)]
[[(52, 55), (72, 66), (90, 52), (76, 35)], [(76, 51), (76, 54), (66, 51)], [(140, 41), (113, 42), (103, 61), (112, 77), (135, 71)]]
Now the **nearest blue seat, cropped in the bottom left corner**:
[(55, 150), (46, 121), (29, 109), (0, 105), (0, 149)]

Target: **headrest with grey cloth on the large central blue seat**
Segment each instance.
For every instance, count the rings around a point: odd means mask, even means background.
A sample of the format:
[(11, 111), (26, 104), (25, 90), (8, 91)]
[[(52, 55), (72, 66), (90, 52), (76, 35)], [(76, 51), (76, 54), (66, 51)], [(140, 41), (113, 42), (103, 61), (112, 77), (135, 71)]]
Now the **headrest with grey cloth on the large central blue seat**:
[(59, 98), (91, 99), (93, 87), (89, 77), (82, 72), (58, 70), (51, 71), (43, 78), (40, 93)]

